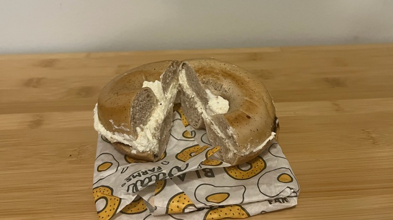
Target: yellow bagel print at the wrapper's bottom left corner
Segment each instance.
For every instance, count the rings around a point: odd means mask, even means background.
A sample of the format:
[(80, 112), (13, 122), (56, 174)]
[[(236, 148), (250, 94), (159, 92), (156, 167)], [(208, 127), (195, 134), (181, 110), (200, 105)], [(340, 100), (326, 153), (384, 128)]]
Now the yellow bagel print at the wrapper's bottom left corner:
[(121, 199), (113, 195), (113, 189), (109, 186), (95, 187), (93, 196), (96, 206), (100, 207), (97, 211), (99, 219), (110, 219), (116, 213)]

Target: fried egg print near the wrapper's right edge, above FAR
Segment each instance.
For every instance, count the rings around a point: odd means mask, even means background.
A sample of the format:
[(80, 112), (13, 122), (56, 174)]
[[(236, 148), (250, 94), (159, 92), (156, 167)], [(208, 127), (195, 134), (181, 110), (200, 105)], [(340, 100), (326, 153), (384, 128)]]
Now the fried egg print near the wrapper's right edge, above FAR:
[(258, 179), (259, 192), (268, 196), (276, 197), (285, 188), (299, 191), (299, 184), (289, 168), (277, 168), (261, 175)]

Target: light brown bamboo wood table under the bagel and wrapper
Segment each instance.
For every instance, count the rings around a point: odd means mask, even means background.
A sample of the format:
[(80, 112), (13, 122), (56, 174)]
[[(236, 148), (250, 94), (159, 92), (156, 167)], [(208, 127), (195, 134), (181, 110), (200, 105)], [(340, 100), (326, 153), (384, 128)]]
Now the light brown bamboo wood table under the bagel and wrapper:
[(301, 193), (250, 219), (391, 219), (391, 44), (0, 56), (0, 218), (97, 219), (100, 89), (135, 66), (193, 57), (248, 69), (274, 97)]

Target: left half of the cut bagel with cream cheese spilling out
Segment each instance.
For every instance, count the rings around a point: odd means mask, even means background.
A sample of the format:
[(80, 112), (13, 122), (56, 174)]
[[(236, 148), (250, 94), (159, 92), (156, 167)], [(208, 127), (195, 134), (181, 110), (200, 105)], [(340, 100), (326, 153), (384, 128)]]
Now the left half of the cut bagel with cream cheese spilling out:
[(178, 67), (178, 61), (160, 61), (112, 79), (98, 97), (94, 128), (128, 156), (158, 160), (169, 140)]

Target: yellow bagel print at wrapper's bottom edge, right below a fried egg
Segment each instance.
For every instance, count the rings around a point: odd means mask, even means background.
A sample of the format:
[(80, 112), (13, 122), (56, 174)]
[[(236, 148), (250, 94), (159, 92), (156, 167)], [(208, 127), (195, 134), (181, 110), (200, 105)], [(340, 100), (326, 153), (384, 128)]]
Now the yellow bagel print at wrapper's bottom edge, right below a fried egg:
[(246, 218), (250, 214), (241, 205), (225, 205), (224, 207), (218, 207), (211, 209), (205, 213), (205, 220), (222, 219), (226, 217), (230, 218)]

